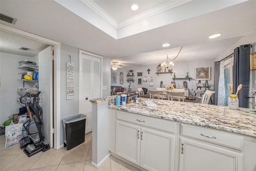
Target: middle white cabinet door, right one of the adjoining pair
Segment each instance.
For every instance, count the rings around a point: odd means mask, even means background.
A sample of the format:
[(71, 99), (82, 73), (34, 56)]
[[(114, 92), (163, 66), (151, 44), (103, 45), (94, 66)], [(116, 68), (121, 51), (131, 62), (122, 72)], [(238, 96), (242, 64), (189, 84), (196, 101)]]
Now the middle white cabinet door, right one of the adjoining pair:
[(140, 136), (140, 166), (147, 170), (174, 171), (174, 135), (142, 127)]

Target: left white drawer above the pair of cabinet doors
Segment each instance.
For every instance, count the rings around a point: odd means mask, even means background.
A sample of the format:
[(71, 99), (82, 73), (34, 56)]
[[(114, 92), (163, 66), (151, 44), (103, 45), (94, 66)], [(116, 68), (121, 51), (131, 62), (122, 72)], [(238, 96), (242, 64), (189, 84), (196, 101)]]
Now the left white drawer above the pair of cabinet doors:
[(165, 121), (164, 119), (150, 118), (123, 111), (117, 111), (117, 119), (175, 133), (175, 123), (172, 121)]

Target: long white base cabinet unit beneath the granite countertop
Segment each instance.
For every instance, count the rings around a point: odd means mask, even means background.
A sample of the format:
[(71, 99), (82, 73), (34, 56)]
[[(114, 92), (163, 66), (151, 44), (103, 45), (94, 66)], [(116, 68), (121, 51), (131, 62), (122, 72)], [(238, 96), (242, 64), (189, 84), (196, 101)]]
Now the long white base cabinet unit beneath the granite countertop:
[(150, 171), (252, 171), (254, 137), (110, 109), (109, 150)]

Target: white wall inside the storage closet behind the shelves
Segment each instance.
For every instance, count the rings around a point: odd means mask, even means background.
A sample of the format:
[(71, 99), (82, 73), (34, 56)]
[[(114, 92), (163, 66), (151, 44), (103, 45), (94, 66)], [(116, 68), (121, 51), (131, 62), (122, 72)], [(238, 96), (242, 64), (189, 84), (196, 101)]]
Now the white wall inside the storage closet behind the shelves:
[[(28, 60), (35, 62), (38, 58), (31, 58), (27, 56), (6, 54), (0, 52), (0, 73), (1, 73), (1, 87), (0, 87), (0, 125), (8, 119), (8, 116), (19, 113), (19, 108), (23, 107), (17, 102), (20, 95), (17, 93), (17, 88), (23, 88), (23, 82), (17, 81), (21, 78), (21, 72), (26, 70), (18, 69), (18, 62)], [(25, 87), (31, 87), (34, 83), (25, 82)]]

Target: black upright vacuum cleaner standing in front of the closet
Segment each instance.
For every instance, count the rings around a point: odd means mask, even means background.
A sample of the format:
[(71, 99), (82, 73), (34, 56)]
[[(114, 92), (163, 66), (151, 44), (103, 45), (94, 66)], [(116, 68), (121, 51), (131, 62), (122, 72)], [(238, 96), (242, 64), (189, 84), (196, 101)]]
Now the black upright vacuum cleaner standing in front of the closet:
[(31, 94), (26, 93), (20, 97), (20, 102), (26, 105), (29, 119), (23, 124), (27, 137), (20, 139), (20, 148), (25, 148), (23, 152), (28, 156), (32, 156), (40, 151), (50, 149), (49, 144), (44, 144), (44, 132), (42, 129), (42, 108), (36, 103), (36, 97), (41, 93), (39, 91), (31, 103)]

